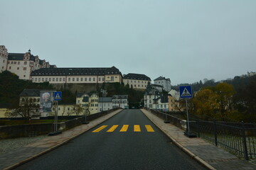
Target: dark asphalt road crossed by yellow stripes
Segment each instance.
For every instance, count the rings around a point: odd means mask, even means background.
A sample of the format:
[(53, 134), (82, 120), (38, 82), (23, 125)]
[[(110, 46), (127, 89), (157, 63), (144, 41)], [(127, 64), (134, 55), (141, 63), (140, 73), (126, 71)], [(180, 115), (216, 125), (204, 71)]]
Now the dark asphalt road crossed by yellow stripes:
[(142, 111), (132, 109), (114, 115), (67, 144), (16, 169), (205, 168), (171, 144)]

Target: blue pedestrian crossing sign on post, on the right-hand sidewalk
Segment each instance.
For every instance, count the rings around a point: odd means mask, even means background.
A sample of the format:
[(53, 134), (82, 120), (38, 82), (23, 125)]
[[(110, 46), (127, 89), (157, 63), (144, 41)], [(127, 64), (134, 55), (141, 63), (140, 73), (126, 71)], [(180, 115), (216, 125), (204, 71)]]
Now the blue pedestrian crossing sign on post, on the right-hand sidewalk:
[(186, 115), (187, 115), (187, 130), (184, 132), (184, 135), (187, 137), (196, 137), (193, 132), (191, 132), (190, 127), (189, 127), (189, 116), (188, 116), (188, 101), (187, 98), (192, 98), (192, 87), (191, 86), (179, 86), (179, 91), (180, 91), (180, 98), (185, 98), (186, 99)]

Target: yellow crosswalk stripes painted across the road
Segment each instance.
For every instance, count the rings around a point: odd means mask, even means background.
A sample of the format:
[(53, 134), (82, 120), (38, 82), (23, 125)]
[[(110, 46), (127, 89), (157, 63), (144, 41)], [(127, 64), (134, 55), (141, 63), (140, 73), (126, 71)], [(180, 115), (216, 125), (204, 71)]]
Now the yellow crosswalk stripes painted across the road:
[[(119, 128), (121, 127), (121, 129)], [(143, 127), (143, 126), (142, 126)], [(144, 128), (145, 127), (145, 128)], [(97, 128), (96, 130), (93, 130), (92, 132), (114, 132), (114, 131), (119, 131), (119, 132), (127, 132), (129, 128), (132, 128), (133, 132), (142, 132), (142, 129), (145, 130), (146, 132), (154, 132), (154, 129), (151, 127), (151, 125), (144, 125), (143, 128), (141, 128), (141, 125), (102, 125), (100, 128)]]

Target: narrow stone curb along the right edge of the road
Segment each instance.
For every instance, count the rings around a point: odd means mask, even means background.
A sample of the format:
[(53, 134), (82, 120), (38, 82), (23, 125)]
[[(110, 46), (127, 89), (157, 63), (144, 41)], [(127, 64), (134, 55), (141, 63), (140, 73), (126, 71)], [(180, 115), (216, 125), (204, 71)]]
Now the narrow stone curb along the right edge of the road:
[[(141, 109), (142, 113), (144, 113), (143, 109)], [(144, 113), (144, 115), (146, 115)], [(149, 118), (149, 116), (146, 115), (146, 118)], [(149, 120), (154, 123), (154, 120), (152, 120), (151, 118), (149, 118)], [(163, 130), (159, 125), (157, 125), (156, 123), (154, 123), (154, 125), (156, 125), (157, 128), (159, 128), (162, 132), (164, 132), (164, 134), (169, 137), (171, 139), (171, 141), (180, 149), (183, 150), (183, 152), (185, 152), (186, 154), (188, 154), (190, 157), (192, 157), (192, 159), (195, 159), (196, 162), (202, 164), (203, 166), (205, 166), (207, 169), (210, 170), (215, 170), (215, 168), (213, 166), (211, 166), (210, 164), (208, 164), (207, 162), (205, 162), (203, 159), (201, 159), (200, 157), (198, 157), (196, 154), (193, 154), (193, 152), (191, 152), (190, 150), (186, 149), (186, 147), (183, 147), (183, 145), (181, 145), (179, 142), (177, 142), (174, 137), (171, 137), (171, 135), (169, 135), (165, 130)]]

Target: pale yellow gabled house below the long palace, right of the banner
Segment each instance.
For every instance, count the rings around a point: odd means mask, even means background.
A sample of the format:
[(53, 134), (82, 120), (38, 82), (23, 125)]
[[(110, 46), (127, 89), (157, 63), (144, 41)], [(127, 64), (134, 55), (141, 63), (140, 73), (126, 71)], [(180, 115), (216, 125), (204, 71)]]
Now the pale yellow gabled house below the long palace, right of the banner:
[(100, 112), (98, 111), (99, 95), (97, 93), (78, 93), (76, 104), (81, 105), (85, 113), (95, 114)]

